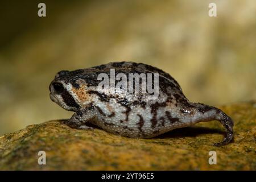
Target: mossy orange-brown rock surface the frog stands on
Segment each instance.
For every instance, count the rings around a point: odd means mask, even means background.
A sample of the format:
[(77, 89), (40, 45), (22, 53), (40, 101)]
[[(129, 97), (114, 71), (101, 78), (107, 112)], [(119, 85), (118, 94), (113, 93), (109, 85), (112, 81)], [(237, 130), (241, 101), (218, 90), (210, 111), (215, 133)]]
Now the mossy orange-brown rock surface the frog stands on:
[[(76, 130), (49, 121), (0, 137), (0, 169), (11, 170), (256, 170), (256, 102), (222, 106), (235, 122), (234, 141), (224, 147), (218, 122), (199, 123), (153, 139), (130, 139), (100, 129)], [(46, 165), (38, 152), (46, 152)], [(217, 164), (208, 163), (216, 151)]]

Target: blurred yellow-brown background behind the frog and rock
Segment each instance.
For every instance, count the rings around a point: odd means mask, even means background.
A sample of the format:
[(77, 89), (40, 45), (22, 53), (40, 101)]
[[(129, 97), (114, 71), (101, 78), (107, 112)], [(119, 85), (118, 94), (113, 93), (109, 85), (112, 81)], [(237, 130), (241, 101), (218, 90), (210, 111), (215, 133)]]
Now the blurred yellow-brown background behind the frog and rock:
[(0, 135), (71, 117), (49, 99), (56, 72), (110, 61), (163, 69), (194, 102), (256, 99), (255, 0), (1, 1), (0, 23)]

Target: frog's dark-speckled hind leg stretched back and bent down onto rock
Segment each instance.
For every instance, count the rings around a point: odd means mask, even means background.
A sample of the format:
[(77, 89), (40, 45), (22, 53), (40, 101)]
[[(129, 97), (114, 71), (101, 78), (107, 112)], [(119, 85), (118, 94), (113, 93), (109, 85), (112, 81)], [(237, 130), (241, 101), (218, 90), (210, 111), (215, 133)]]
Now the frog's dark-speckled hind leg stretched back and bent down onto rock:
[(208, 106), (204, 104), (196, 104), (197, 108), (197, 115), (199, 117), (196, 117), (196, 121), (193, 121), (194, 123), (197, 122), (205, 122), (205, 121), (212, 121), (212, 120), (217, 120), (222, 123), (222, 125), (226, 129), (226, 136), (222, 142), (219, 143), (214, 143), (214, 146), (224, 146), (228, 143), (230, 143), (234, 137), (234, 132), (233, 132), (233, 126), (234, 122), (233, 120), (224, 113), (224, 111), (213, 107), (213, 106)]

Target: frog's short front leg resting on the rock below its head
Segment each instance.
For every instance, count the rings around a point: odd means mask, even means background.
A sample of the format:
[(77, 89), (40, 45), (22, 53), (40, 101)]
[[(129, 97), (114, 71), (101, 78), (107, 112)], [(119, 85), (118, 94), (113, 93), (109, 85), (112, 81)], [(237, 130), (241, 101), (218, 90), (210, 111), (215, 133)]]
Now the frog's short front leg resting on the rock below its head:
[(76, 111), (68, 121), (65, 122), (66, 125), (75, 129), (93, 129), (93, 127), (87, 126), (91, 119), (94, 119), (96, 112), (93, 105), (89, 105), (83, 109)]

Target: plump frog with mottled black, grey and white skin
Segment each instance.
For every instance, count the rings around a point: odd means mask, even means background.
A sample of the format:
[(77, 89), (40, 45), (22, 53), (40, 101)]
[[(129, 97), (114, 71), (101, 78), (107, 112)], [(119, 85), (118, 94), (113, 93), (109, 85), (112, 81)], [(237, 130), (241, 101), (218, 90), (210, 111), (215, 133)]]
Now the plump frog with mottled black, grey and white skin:
[[(147, 93), (99, 93), (100, 73), (159, 73), (159, 97), (149, 100)], [(128, 78), (128, 76), (127, 76)], [(116, 81), (118, 82), (118, 81)], [(202, 121), (217, 120), (226, 129), (226, 137), (215, 146), (233, 139), (233, 121), (220, 109), (188, 101), (179, 84), (168, 73), (150, 65), (118, 62), (76, 71), (61, 71), (51, 82), (51, 100), (66, 110), (75, 111), (67, 125), (93, 129), (88, 123), (109, 133), (131, 138), (152, 138)]]

